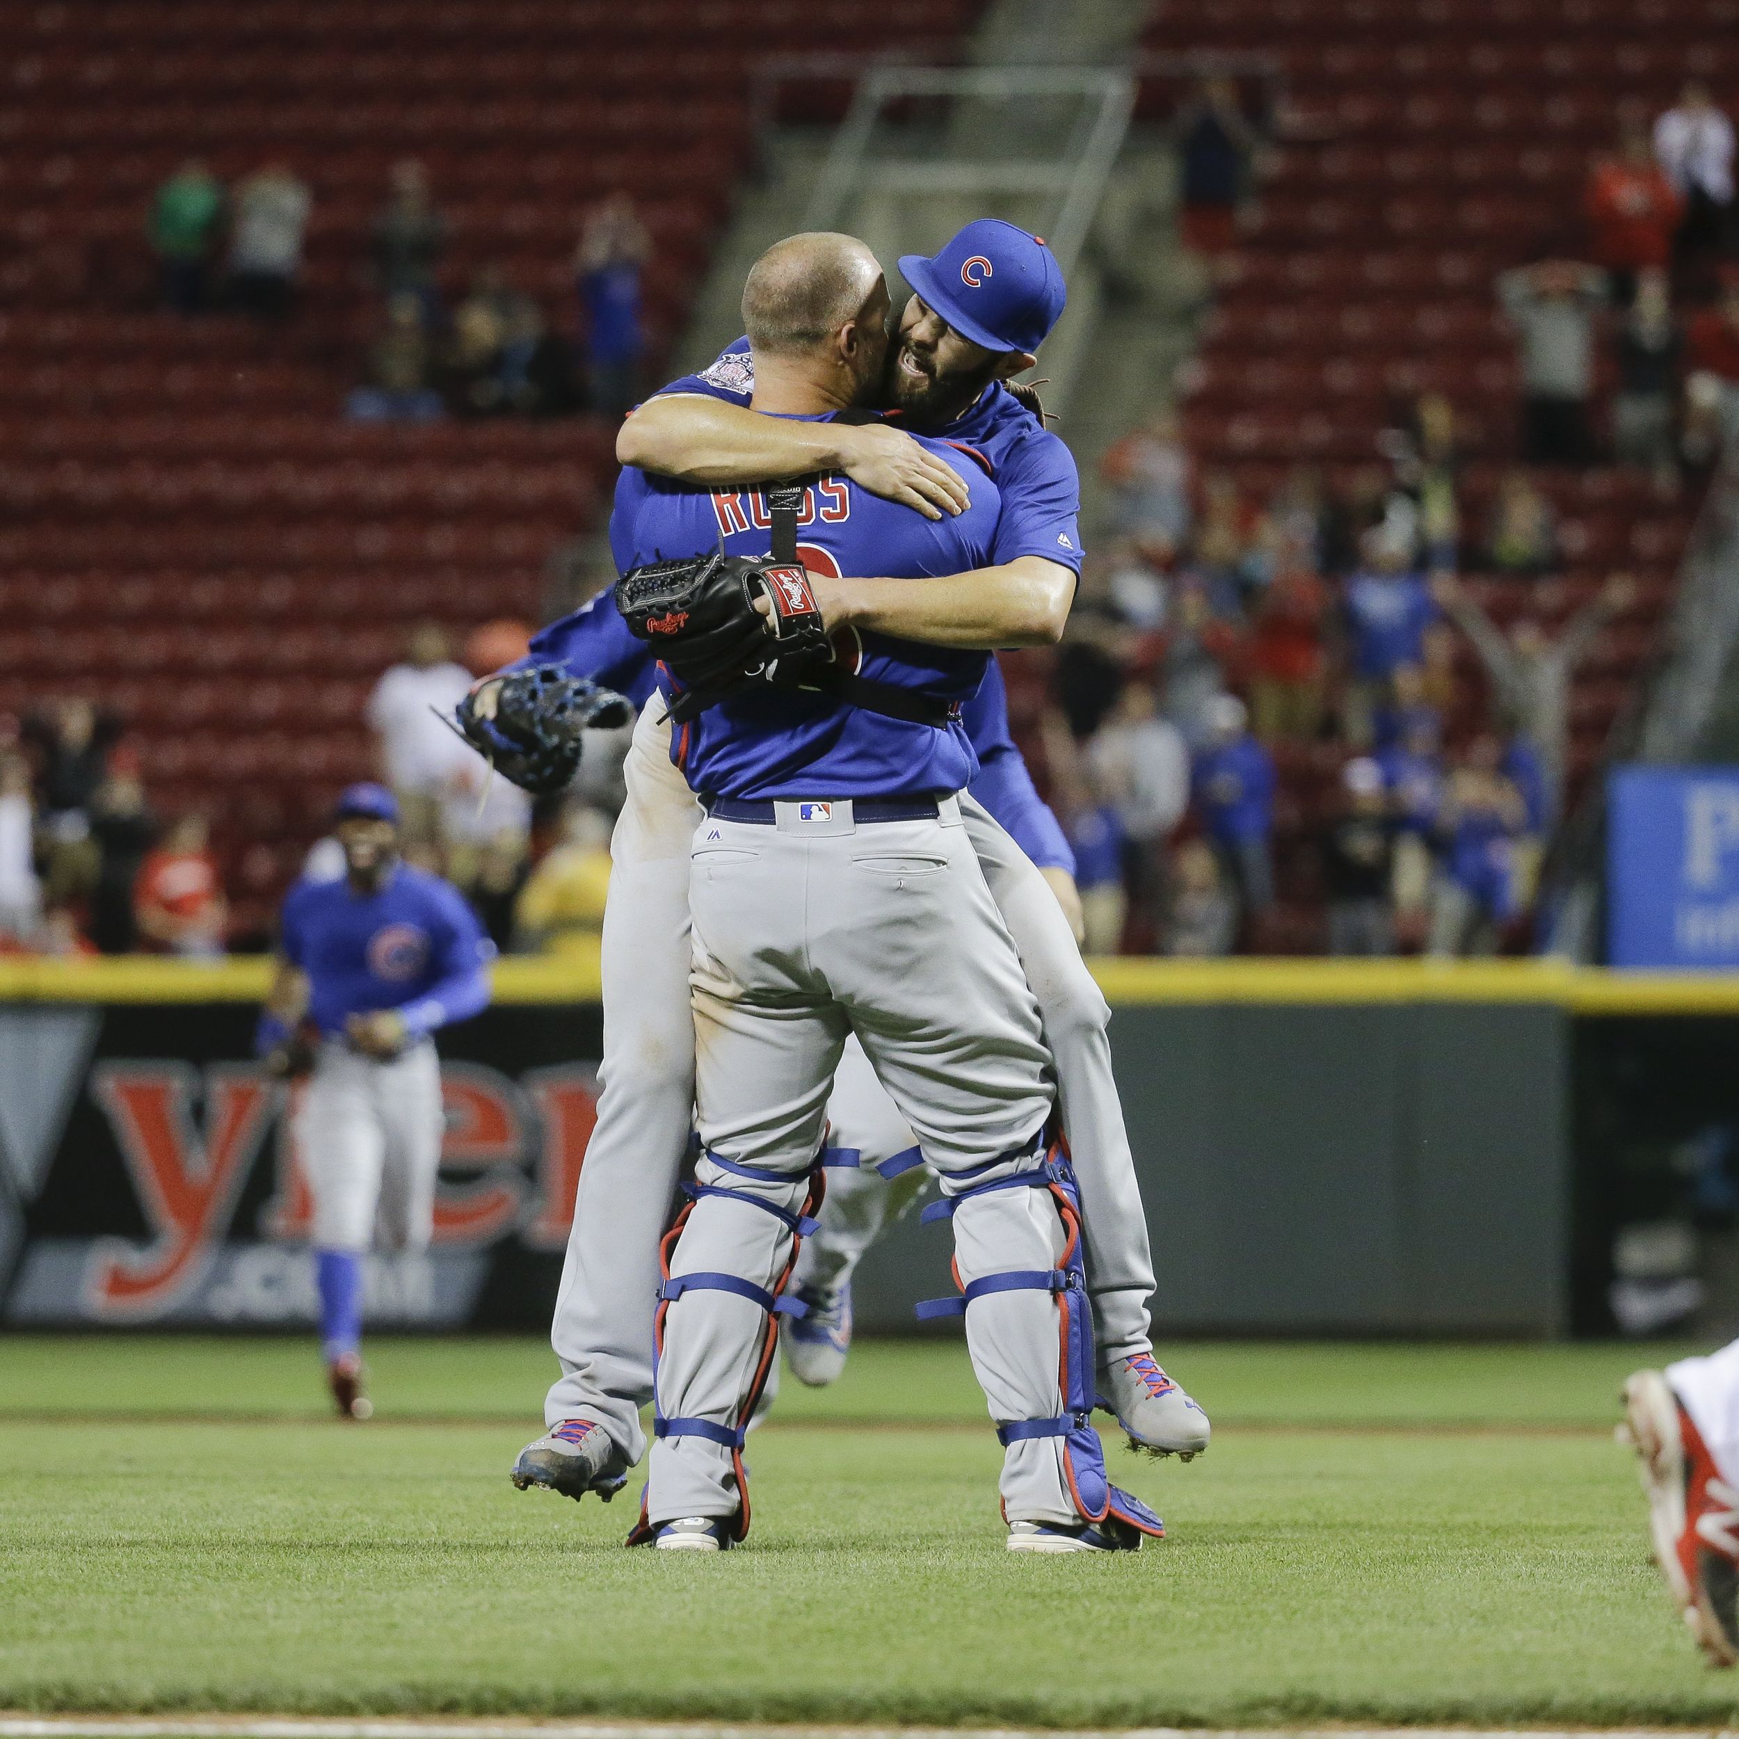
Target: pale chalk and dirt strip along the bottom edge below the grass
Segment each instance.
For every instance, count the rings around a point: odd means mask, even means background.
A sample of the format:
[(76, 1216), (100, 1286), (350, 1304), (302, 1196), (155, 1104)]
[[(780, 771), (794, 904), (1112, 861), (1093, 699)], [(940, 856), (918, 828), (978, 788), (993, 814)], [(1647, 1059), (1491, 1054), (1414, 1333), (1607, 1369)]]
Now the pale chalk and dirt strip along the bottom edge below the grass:
[[(1059, 1739), (1054, 1727), (890, 1727), (755, 1722), (456, 1722), (270, 1720), (184, 1715), (174, 1720), (127, 1716), (0, 1716), (0, 1739)], [(1078, 1727), (1069, 1739), (1739, 1739), (1722, 1727)]]

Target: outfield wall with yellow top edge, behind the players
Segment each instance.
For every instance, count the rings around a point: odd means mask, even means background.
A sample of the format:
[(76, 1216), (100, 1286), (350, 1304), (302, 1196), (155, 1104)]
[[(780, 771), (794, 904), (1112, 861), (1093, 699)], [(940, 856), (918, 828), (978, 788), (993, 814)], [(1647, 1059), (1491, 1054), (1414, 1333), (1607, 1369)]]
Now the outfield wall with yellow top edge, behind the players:
[[(1167, 1332), (1586, 1325), (1572, 1308), (1589, 1247), (1586, 1059), (1610, 1069), (1612, 1035), (1642, 1035), (1629, 1054), (1690, 1023), (1716, 1035), (1704, 1073), (1722, 1073), (1722, 1035), (1739, 1031), (1739, 977), (1536, 962), (1097, 972)], [(311, 1320), (287, 1094), (249, 1056), (264, 977), (259, 960), (0, 963), (0, 1318)], [(548, 1316), (593, 1122), (596, 963), (508, 960), (496, 979), (496, 1005), (443, 1035), (436, 1242), (374, 1266), (377, 1323)], [(908, 1329), (911, 1303), (946, 1290), (946, 1254), (944, 1229), (903, 1223), (864, 1266), (859, 1320)]]

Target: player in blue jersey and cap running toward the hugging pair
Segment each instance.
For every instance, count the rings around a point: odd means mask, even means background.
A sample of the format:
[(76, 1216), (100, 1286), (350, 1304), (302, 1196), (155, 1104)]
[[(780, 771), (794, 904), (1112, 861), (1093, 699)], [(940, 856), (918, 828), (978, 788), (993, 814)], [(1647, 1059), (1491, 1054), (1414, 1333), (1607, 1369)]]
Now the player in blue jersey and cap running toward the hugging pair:
[(430, 1035), (489, 1003), (494, 953), (459, 890), (398, 861), (398, 803), (379, 784), (337, 802), (337, 882), (297, 882), (254, 1047), (310, 1073), (296, 1146), (313, 1193), (320, 1344), (341, 1417), (362, 1393), (362, 1256), (430, 1242), (442, 1146)]

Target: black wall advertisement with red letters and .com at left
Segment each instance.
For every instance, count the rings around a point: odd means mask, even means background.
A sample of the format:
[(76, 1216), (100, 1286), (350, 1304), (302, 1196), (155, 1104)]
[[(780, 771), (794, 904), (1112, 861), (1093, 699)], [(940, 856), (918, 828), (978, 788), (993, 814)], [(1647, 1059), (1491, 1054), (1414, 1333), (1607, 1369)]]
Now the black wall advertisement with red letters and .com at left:
[[(216, 1002), (0, 1009), (0, 1318), (316, 1320), (287, 1115), (299, 1089), (254, 1064), (254, 1017)], [(600, 1042), (588, 1005), (497, 1005), (442, 1035), (435, 1238), (370, 1259), (370, 1322), (548, 1327)]]

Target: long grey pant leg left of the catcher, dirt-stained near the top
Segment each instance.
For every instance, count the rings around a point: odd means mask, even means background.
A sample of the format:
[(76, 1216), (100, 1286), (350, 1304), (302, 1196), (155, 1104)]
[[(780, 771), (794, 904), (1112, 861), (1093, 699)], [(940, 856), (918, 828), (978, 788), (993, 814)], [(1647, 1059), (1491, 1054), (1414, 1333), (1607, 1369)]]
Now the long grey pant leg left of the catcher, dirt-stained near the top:
[(689, 1012), (689, 842), (699, 805), (670, 762), (654, 696), (623, 767), (628, 802), (610, 840), (603, 913), (603, 1063), (550, 1343), (562, 1376), (544, 1402), (602, 1424), (631, 1466), (652, 1398), (657, 1245), (694, 1118)]

